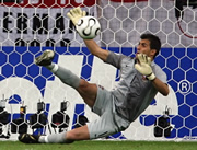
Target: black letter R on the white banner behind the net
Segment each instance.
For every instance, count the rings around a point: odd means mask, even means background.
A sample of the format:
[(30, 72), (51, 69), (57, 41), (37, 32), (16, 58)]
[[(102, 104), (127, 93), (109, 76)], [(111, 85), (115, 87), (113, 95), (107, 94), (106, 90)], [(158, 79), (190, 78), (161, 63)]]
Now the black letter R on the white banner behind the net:
[(27, 15), (18, 13), (18, 33), (27, 33)]

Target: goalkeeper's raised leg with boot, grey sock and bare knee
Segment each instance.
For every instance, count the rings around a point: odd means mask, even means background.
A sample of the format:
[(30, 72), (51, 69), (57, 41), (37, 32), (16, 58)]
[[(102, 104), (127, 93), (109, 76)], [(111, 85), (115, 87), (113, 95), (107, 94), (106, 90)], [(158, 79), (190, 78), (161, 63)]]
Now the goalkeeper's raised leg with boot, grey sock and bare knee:
[(55, 53), (53, 50), (45, 50), (39, 57), (35, 58), (35, 64), (38, 66), (44, 66), (50, 70), (55, 76), (57, 76), (65, 84), (68, 84), (76, 89), (82, 96), (84, 102), (92, 107), (94, 105), (97, 86), (96, 84), (91, 84), (85, 80), (80, 79), (78, 76), (72, 73), (70, 70), (58, 66), (53, 62)]

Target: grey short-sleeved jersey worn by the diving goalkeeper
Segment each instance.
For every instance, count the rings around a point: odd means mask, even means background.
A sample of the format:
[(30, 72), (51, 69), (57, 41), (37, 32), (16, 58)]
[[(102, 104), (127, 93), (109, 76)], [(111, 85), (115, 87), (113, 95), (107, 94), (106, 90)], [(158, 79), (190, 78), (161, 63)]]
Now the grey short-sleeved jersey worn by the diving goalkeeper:
[[(134, 122), (149, 106), (158, 91), (152, 81), (135, 69), (135, 58), (111, 51), (106, 62), (120, 70), (119, 83), (112, 91), (116, 111), (123, 118)], [(166, 83), (166, 74), (162, 69), (154, 62), (151, 68), (157, 78)]]

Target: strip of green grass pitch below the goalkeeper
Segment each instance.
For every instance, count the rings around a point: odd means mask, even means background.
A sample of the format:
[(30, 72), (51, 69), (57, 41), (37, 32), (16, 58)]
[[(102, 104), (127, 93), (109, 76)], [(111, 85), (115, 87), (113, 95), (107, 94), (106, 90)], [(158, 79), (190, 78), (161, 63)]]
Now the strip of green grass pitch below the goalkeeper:
[(1, 150), (197, 150), (197, 142), (175, 141), (76, 141), (70, 145), (25, 145), (19, 141), (0, 141)]

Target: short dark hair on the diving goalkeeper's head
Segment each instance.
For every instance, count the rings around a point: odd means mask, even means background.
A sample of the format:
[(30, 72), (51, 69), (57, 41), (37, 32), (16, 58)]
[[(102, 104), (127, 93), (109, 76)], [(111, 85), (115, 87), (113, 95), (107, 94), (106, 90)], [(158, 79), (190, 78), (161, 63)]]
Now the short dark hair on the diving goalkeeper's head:
[(154, 57), (160, 53), (161, 41), (158, 36), (150, 34), (150, 33), (147, 33), (147, 34), (142, 34), (140, 36), (140, 38), (141, 39), (148, 39), (150, 42), (150, 48), (157, 50)]

